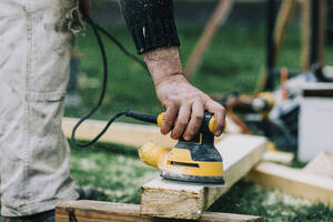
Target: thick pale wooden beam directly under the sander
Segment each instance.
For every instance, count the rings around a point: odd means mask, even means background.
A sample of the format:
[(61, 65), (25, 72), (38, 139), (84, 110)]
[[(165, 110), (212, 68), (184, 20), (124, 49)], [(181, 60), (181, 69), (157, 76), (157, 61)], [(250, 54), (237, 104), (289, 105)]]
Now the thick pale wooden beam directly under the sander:
[(142, 186), (141, 213), (161, 218), (200, 218), (203, 211), (261, 160), (266, 144), (263, 137), (225, 137), (216, 143), (224, 161), (225, 186), (181, 184), (157, 178)]

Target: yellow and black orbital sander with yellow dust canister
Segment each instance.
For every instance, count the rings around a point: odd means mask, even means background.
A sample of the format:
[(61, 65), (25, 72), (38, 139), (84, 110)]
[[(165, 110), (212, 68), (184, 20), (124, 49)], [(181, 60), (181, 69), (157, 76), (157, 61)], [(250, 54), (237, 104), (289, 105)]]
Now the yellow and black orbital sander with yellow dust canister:
[[(161, 127), (165, 113), (150, 115), (127, 111), (125, 115)], [(139, 150), (140, 159), (160, 169), (161, 176), (168, 180), (224, 185), (222, 157), (214, 147), (214, 127), (215, 117), (205, 112), (198, 134), (190, 141), (180, 138), (172, 149), (148, 142)]]

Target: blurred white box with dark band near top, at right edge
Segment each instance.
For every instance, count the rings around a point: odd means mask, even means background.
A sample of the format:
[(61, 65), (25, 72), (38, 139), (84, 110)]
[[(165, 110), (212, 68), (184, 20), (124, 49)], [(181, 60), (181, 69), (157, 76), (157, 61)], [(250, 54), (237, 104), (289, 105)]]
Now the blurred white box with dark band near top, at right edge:
[(333, 83), (303, 88), (299, 119), (299, 159), (310, 161), (322, 151), (333, 153)]

